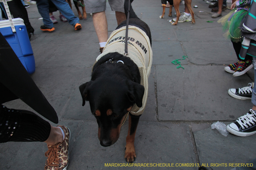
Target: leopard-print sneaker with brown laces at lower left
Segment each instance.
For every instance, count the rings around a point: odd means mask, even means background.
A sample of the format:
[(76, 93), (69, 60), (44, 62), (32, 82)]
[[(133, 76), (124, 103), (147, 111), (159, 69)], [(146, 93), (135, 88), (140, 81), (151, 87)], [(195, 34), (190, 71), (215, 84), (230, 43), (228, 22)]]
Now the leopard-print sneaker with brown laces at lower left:
[(57, 127), (63, 129), (65, 138), (61, 143), (47, 145), (48, 151), (45, 152), (47, 159), (44, 170), (66, 170), (68, 168), (70, 130), (66, 126), (59, 125)]

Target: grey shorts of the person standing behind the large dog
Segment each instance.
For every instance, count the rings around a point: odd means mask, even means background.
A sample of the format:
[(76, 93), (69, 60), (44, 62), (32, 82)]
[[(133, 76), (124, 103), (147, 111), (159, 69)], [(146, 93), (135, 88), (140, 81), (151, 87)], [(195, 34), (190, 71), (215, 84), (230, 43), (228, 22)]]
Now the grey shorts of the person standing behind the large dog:
[[(106, 0), (84, 0), (86, 13), (106, 10)], [(124, 12), (124, 0), (108, 0), (112, 11)]]

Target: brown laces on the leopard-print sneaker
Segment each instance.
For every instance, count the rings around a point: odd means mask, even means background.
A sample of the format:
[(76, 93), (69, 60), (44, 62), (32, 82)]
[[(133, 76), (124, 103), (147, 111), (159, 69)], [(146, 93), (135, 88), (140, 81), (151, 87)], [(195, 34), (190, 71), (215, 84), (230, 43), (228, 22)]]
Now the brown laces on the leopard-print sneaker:
[(59, 157), (57, 157), (58, 156), (57, 152), (60, 152), (60, 148), (61, 146), (59, 146), (59, 148), (50, 147), (48, 151), (45, 152), (45, 156), (48, 157), (45, 167), (60, 166), (60, 161), (61, 161), (61, 159), (59, 159), (60, 155)]

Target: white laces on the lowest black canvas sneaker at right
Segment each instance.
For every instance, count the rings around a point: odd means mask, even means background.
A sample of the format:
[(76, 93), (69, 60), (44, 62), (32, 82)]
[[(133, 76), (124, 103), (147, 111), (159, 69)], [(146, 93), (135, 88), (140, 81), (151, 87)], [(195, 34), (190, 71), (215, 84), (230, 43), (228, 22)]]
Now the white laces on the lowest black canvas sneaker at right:
[[(251, 112), (251, 113), (250, 113)], [(250, 109), (246, 115), (239, 117), (236, 122), (240, 124), (240, 126), (244, 129), (244, 126), (248, 128), (247, 125), (252, 126), (251, 123), (254, 125), (256, 122), (255, 112), (254, 110)]]

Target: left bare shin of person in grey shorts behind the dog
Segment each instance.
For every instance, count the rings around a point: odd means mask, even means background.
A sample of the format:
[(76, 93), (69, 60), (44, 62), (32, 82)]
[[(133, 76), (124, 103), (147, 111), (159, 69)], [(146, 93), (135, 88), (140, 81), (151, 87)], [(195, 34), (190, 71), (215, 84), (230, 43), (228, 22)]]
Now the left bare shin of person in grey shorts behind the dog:
[(99, 42), (107, 42), (108, 40), (108, 23), (105, 11), (92, 14), (94, 29), (98, 36)]

